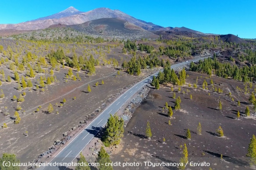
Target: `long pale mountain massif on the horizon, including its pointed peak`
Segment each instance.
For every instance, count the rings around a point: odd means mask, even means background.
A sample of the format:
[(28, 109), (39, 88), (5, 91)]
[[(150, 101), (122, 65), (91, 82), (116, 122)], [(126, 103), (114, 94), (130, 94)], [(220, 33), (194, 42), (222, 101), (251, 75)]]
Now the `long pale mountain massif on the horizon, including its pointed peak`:
[[(79, 14), (75, 14), (79, 13)], [(72, 14), (72, 15), (71, 15)], [(32, 21), (26, 21), (18, 24), (0, 24), (0, 30), (6, 29), (16, 29), (16, 30), (37, 30), (48, 28), (50, 25), (54, 24), (82, 24), (87, 21), (92, 21), (100, 18), (121, 18), (125, 21), (131, 22), (148, 31), (157, 30), (168, 30), (169, 28), (164, 28), (162, 26), (153, 24), (151, 22), (142, 21), (132, 17), (128, 14), (121, 12), (120, 10), (111, 10), (109, 8), (96, 8), (88, 12), (83, 12), (76, 10), (74, 7), (69, 7), (68, 9), (53, 14), (48, 17), (38, 18)]]

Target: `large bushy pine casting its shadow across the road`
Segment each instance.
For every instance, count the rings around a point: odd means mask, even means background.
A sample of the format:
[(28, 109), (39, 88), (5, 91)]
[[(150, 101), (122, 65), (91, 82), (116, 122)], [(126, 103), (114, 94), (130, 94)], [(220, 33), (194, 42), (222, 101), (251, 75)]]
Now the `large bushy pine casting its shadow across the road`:
[(106, 131), (103, 137), (103, 143), (105, 146), (118, 145), (121, 142), (121, 138), (124, 136), (124, 120), (114, 114), (110, 114), (107, 120)]

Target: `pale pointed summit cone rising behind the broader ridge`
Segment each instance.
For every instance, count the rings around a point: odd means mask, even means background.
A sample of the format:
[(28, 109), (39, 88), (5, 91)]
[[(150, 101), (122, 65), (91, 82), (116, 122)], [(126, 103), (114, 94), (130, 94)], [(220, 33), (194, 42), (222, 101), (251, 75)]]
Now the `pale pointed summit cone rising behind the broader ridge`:
[(50, 15), (50, 16), (47, 16), (47, 17), (41, 17), (41, 18), (38, 18), (38, 19), (32, 20), (32, 21), (60, 19), (62, 17), (70, 17), (72, 15), (81, 14), (81, 13), (83, 13), (83, 12), (75, 9), (74, 7), (69, 7), (69, 8), (67, 8), (67, 9), (65, 9), (65, 10), (63, 10), (59, 13), (56, 13), (56, 14), (53, 14), (53, 15)]

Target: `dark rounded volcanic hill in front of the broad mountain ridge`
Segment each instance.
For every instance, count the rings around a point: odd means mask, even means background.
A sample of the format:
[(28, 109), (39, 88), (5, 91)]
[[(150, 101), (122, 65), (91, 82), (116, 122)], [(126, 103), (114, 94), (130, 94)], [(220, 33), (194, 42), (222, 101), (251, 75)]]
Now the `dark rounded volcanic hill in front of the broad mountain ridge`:
[(88, 35), (116, 38), (157, 38), (152, 32), (146, 31), (135, 24), (129, 23), (120, 18), (101, 18), (87, 21), (83, 24), (70, 25), (77, 31), (84, 32)]

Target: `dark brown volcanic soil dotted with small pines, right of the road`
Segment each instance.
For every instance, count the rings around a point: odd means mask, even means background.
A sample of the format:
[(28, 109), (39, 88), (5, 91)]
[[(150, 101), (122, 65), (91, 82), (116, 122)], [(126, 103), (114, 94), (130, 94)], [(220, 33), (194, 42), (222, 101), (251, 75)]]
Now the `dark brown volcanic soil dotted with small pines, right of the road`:
[[(188, 72), (189, 78), (187, 83), (195, 83), (196, 76), (199, 77), (198, 87), (202, 87), (202, 83), (206, 75)], [(202, 76), (202, 78), (200, 78)], [(201, 163), (205, 161), (210, 163), (213, 170), (243, 170), (249, 169), (248, 159), (245, 157), (248, 144), (252, 134), (255, 134), (256, 119), (243, 115), (245, 107), (249, 106), (248, 95), (236, 90), (236, 86), (241, 89), (245, 85), (233, 80), (226, 80), (218, 77), (211, 77), (214, 86), (223, 90), (223, 94), (210, 90), (210, 79), (208, 82), (209, 90), (181, 87), (178, 93), (174, 88), (176, 98), (181, 97), (181, 110), (174, 111), (173, 118), (167, 117), (167, 109), (165, 102), (174, 107), (175, 99), (172, 98), (174, 92), (169, 87), (160, 87), (160, 90), (150, 90), (149, 96), (142, 105), (136, 109), (132, 119), (125, 128), (124, 138), (118, 148), (117, 154), (112, 154), (112, 161), (123, 162), (140, 162), (139, 167), (114, 167), (115, 170), (144, 170), (144, 169), (171, 169), (176, 170), (177, 167), (150, 167), (145, 166), (144, 161), (153, 163), (179, 162), (182, 156), (180, 146), (184, 143), (188, 148), (188, 161)], [(216, 84), (217, 83), (217, 84)], [(252, 87), (254, 88), (254, 87)], [(188, 90), (188, 91), (187, 91)], [(227, 95), (231, 91), (235, 101)], [(208, 95), (210, 93), (210, 96)], [(190, 94), (193, 99), (190, 100)], [(218, 100), (222, 101), (222, 111), (218, 110)], [(237, 107), (237, 101), (241, 102), (241, 107)], [(240, 111), (241, 117), (236, 119), (237, 110)], [(252, 112), (252, 111), (251, 111)], [(168, 125), (171, 120), (171, 125)], [(146, 122), (150, 122), (152, 138), (145, 138)], [(202, 135), (196, 134), (198, 123), (202, 125)], [(218, 137), (215, 132), (221, 126), (224, 130), (224, 136)], [(187, 128), (191, 131), (191, 140), (185, 138)], [(165, 138), (165, 143), (163, 143)], [(114, 147), (113, 147), (114, 148)], [(115, 153), (115, 151), (112, 151)], [(223, 160), (220, 159), (223, 155)], [(209, 167), (189, 167), (192, 170), (209, 170)]]

